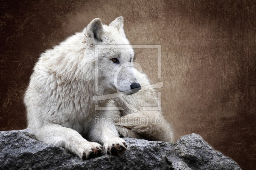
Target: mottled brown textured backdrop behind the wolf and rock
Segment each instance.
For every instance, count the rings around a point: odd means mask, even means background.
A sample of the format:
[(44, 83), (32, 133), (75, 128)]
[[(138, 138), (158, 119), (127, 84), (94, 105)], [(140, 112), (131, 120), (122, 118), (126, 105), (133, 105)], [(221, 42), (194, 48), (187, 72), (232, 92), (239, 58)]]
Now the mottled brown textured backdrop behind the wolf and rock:
[(255, 1), (1, 1), (0, 130), (26, 128), (22, 102), (32, 67), (47, 48), (93, 18), (124, 17), (131, 44), (178, 139), (200, 134), (243, 170), (256, 166)]

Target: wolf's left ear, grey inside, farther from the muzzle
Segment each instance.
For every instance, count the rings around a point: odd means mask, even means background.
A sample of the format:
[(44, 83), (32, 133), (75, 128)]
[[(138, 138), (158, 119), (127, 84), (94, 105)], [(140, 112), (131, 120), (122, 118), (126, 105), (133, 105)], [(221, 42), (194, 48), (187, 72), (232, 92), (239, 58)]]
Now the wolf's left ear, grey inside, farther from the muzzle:
[(100, 36), (103, 31), (103, 27), (100, 18), (93, 19), (86, 29), (90, 38), (94, 38), (96, 41), (102, 41)]

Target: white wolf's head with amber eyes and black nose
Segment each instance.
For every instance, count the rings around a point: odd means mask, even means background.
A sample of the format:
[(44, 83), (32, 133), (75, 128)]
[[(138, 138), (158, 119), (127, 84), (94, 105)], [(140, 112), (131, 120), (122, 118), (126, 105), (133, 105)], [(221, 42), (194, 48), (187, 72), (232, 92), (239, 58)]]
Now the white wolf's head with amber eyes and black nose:
[(123, 17), (116, 18), (109, 26), (102, 25), (101, 20), (95, 18), (85, 30), (87, 43), (95, 47), (95, 71), (99, 90), (104, 89), (104, 93), (117, 90), (129, 94), (141, 89), (132, 69), (134, 51), (123, 27)]

